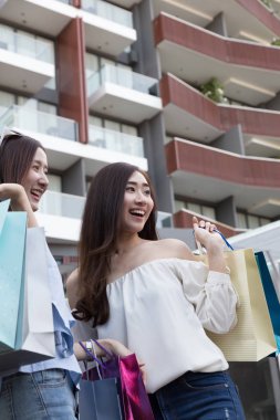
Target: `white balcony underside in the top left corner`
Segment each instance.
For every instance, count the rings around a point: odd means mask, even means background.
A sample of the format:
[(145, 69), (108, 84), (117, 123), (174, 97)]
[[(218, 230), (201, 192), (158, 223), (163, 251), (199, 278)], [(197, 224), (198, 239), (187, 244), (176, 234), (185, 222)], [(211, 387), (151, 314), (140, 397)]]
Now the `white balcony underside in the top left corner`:
[(1, 19), (21, 28), (58, 36), (77, 14), (77, 9), (68, 3), (61, 0), (0, 1), (0, 14)]

